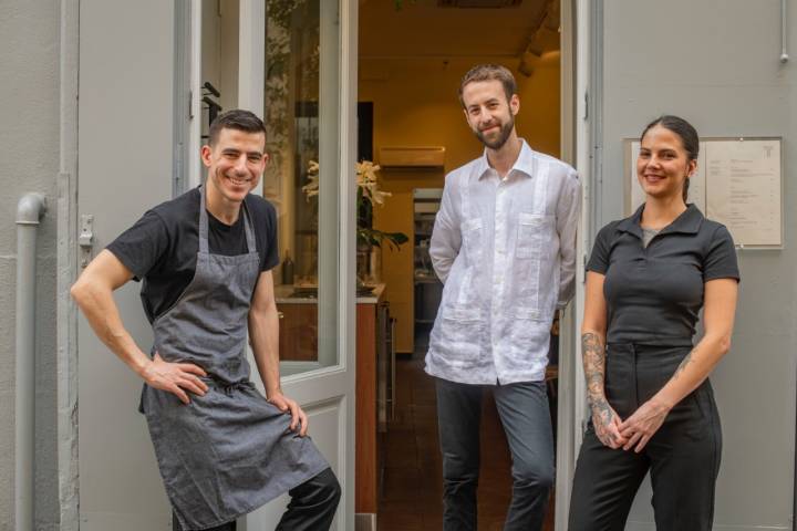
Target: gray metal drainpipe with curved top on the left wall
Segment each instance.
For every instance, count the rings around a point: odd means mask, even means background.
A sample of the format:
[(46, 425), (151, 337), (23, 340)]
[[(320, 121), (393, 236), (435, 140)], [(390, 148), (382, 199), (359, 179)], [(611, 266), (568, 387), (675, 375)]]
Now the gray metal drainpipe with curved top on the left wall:
[(17, 204), (17, 402), (15, 529), (33, 529), (33, 454), (35, 406), (37, 231), (46, 211), (41, 194), (25, 194)]

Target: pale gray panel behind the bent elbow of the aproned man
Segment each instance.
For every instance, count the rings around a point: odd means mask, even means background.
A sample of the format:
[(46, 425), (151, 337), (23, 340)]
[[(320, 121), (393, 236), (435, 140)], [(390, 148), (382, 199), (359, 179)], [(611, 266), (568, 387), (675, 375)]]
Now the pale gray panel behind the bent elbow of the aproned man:
[[(174, 2), (84, 0), (80, 20), (79, 214), (100, 252), (172, 197)], [(115, 300), (147, 352), (152, 333), (131, 282)], [(81, 530), (167, 529), (168, 504), (144, 416), (142, 381), (79, 320)]]

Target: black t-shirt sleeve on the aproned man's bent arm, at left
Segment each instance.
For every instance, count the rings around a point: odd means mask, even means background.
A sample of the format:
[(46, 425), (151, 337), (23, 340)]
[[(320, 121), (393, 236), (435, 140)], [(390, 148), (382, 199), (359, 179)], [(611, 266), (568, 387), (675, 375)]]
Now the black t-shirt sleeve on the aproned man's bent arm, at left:
[(135, 280), (141, 280), (167, 253), (168, 247), (166, 223), (161, 216), (149, 210), (106, 249), (133, 272)]

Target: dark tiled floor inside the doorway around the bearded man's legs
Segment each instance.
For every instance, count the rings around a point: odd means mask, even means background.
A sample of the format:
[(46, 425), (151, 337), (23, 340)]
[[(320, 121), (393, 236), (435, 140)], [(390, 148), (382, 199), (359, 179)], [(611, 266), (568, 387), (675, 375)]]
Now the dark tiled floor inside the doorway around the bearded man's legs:
[[(423, 372), (423, 356), (396, 362), (396, 409), (384, 439), (384, 477), (379, 531), (442, 529), (443, 487), (437, 446), (434, 382)], [(479, 530), (500, 530), (511, 498), (511, 459), (504, 429), (488, 395), (482, 420)], [(553, 529), (552, 504), (546, 531)]]

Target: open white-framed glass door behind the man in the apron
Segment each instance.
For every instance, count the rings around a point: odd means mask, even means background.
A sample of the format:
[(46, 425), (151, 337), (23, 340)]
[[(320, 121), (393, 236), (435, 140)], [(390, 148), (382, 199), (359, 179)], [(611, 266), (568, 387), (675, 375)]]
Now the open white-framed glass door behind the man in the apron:
[[(278, 214), (282, 388), (339, 477), (340, 530), (354, 528), (356, 6), (220, 0), (204, 2), (193, 24), (194, 153), (216, 111), (248, 108), (266, 123), (271, 162), (259, 192)], [(199, 165), (189, 167), (199, 183)], [(251, 513), (246, 529), (273, 529), (286, 502)]]

